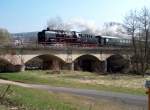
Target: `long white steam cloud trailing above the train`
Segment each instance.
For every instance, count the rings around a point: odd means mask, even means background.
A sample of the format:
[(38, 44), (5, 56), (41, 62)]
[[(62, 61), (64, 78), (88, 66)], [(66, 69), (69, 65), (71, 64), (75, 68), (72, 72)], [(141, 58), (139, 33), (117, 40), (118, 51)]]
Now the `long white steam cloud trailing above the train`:
[(56, 30), (72, 30), (95, 35), (109, 36), (125, 36), (126, 30), (120, 23), (109, 22), (105, 23), (102, 28), (93, 20), (85, 20), (83, 18), (71, 18), (63, 21), (60, 17), (52, 18), (47, 22), (50, 29)]

